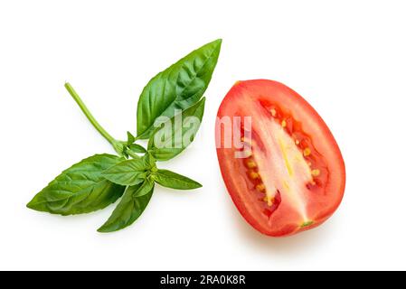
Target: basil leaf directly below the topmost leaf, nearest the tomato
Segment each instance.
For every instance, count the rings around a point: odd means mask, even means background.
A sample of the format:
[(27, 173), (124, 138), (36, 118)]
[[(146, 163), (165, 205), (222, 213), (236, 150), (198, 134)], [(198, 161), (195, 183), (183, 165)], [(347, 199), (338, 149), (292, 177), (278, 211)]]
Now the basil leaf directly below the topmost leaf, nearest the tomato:
[[(194, 141), (194, 135), (202, 122), (204, 101), (205, 98), (202, 98), (194, 106), (184, 110), (182, 114), (168, 119), (163, 126), (156, 128), (149, 138), (148, 152), (157, 161), (172, 159)], [(182, 122), (177, 124), (177, 119), (180, 117), (182, 117)]]

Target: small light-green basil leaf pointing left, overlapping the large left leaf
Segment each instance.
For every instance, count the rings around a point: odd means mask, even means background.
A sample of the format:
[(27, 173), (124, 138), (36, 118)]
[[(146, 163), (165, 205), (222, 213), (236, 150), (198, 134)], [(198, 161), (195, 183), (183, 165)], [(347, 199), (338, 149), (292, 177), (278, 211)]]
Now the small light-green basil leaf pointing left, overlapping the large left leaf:
[(132, 159), (118, 163), (103, 172), (103, 176), (110, 182), (118, 183), (124, 186), (133, 186), (144, 182), (148, 173), (156, 166), (155, 160), (150, 154), (142, 158)]

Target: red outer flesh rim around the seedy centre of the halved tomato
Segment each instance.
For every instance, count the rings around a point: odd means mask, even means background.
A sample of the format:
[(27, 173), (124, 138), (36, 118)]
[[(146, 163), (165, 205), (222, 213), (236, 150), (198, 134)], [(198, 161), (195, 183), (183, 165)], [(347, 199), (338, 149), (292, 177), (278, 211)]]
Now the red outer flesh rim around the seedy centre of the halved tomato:
[[(257, 98), (257, 96), (269, 96), (282, 107), (296, 107), (296, 110), (294, 110), (297, 115), (294, 117), (304, 121), (304, 130), (310, 132), (310, 135), (312, 135), (312, 131), (317, 131), (318, 137), (316, 144), (320, 144), (320, 146), (324, 148), (321, 149), (321, 151), (322, 153), (326, 153), (326, 155), (323, 155), (326, 156), (331, 176), (325, 186), (327, 195), (326, 199), (328, 200), (313, 203), (310, 201), (307, 204), (307, 210), (313, 221), (311, 225), (302, 227), (299, 218), (295, 216), (294, 212), (287, 208), (278, 209), (278, 215), (275, 214), (275, 217), (273, 217), (272, 222), (269, 224), (269, 222), (264, 221), (258, 212), (251, 209), (252, 205), (247, 202), (247, 199), (244, 200), (244, 192), (241, 192), (241, 188), (239, 188), (239, 185), (236, 184), (237, 181), (235, 180), (235, 175), (239, 172), (232, 172), (230, 169), (236, 168), (236, 166), (232, 166), (232, 164), (230, 165), (230, 162), (228, 161), (231, 153), (227, 153), (227, 151), (230, 151), (230, 149), (222, 148), (223, 140), (217, 139), (218, 135), (216, 134), (216, 144), (221, 144), (220, 147), (217, 147), (217, 157), (222, 172), (222, 178), (227, 191), (231, 196), (231, 200), (240, 211), (242, 217), (246, 219), (253, 228), (257, 229), (264, 235), (271, 237), (287, 237), (310, 228), (316, 228), (324, 223), (326, 219), (335, 212), (343, 199), (345, 191), (345, 163), (340, 149), (335, 142), (334, 136), (330, 132), (328, 126), (326, 126), (324, 120), (304, 98), (284, 84), (269, 79), (254, 79), (236, 82), (222, 100), (217, 117), (232, 117), (228, 111), (229, 107), (235, 105), (244, 93), (251, 93), (253, 99)], [(299, 107), (299, 109), (297, 109), (297, 107)], [(306, 122), (307, 118), (311, 119), (311, 124)], [(313, 127), (312, 124), (316, 128)], [(245, 192), (245, 194), (248, 193), (248, 191)]]

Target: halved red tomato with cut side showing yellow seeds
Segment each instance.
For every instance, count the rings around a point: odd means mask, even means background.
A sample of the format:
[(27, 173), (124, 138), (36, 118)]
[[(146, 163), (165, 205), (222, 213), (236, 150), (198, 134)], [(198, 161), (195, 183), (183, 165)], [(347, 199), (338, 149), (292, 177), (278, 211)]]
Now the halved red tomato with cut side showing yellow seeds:
[(304, 98), (279, 82), (237, 82), (219, 108), (216, 145), (233, 202), (263, 234), (314, 228), (343, 198), (345, 164), (334, 136)]

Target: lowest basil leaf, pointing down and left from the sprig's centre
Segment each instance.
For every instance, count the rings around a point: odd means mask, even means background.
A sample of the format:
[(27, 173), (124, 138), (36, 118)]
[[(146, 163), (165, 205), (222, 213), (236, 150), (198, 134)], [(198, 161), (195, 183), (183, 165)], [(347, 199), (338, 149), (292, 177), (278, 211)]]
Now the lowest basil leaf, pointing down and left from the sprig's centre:
[[(127, 187), (123, 198), (118, 203), (110, 218), (101, 226), (98, 231), (101, 233), (108, 233), (117, 231), (121, 228), (126, 228), (146, 209), (146, 206), (151, 200), (154, 191), (154, 182), (146, 180), (142, 184)], [(138, 197), (136, 197), (139, 195)]]

